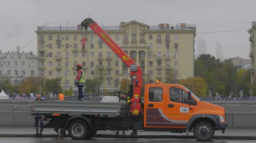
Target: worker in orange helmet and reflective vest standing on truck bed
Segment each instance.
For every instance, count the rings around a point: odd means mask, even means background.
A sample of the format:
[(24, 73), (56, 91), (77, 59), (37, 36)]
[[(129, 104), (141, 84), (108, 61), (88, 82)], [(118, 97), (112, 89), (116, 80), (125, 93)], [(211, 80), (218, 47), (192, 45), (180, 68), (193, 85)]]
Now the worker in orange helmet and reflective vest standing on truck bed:
[(84, 101), (84, 95), (83, 95), (83, 87), (85, 85), (85, 73), (82, 69), (82, 64), (77, 63), (76, 64), (76, 81), (75, 86), (78, 88), (78, 98), (79, 101)]

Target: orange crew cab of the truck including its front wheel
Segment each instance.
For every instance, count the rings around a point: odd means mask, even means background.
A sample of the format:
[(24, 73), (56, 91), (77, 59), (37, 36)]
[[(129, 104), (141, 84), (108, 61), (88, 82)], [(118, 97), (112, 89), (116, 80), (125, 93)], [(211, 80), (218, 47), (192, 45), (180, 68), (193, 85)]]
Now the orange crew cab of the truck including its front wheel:
[(145, 84), (145, 131), (193, 132), (198, 140), (210, 140), (215, 130), (225, 132), (223, 107), (201, 101), (183, 85), (157, 83)]

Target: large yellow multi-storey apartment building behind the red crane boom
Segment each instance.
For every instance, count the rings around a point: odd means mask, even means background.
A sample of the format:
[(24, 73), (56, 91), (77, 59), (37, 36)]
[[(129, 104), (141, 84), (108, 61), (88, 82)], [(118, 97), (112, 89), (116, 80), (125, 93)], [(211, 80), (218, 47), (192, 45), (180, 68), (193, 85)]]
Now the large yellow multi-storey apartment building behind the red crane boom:
[[(102, 26), (111, 38), (133, 58), (147, 76), (146, 82), (164, 81), (165, 69), (175, 67), (180, 78), (194, 75), (195, 25), (159, 24), (148, 26), (135, 20), (119, 26)], [(94, 74), (95, 66), (105, 66), (106, 83), (102, 89), (118, 90), (119, 81), (126, 79), (128, 67), (88, 28), (86, 49), (80, 40), (85, 37), (81, 25), (74, 27), (38, 26), (39, 70), (59, 84), (73, 87), (75, 65), (83, 65), (86, 78)], [(66, 81), (63, 73), (67, 73)]]

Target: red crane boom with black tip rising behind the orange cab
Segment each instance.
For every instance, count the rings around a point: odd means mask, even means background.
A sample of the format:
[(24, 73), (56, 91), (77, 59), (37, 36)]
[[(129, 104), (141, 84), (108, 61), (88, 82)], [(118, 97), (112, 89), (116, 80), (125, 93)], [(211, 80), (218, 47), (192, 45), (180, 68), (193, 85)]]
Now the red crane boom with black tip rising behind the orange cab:
[[(106, 45), (124, 62), (130, 69), (130, 91), (128, 93), (128, 102), (130, 103), (130, 112), (137, 116), (141, 113), (141, 103), (140, 103), (140, 95), (142, 90), (142, 70), (141, 68), (134, 62), (134, 59), (131, 59), (127, 53), (125, 53), (122, 48), (114, 42), (114, 40), (91, 18), (86, 18), (83, 22), (81, 22), (81, 26), (85, 28), (87, 31), (88, 27), (90, 27), (95, 34), (105, 42)], [(136, 79), (132, 84), (132, 77), (136, 76)], [(134, 85), (134, 90), (133, 89)]]

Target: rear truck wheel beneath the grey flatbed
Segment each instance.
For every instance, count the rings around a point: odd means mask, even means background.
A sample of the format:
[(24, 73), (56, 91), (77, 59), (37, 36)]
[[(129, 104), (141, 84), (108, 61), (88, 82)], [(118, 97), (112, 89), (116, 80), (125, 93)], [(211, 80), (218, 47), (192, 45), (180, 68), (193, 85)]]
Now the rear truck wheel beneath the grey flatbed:
[(80, 120), (75, 120), (68, 127), (68, 134), (73, 140), (85, 140), (89, 135), (89, 126)]

